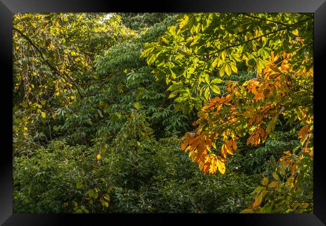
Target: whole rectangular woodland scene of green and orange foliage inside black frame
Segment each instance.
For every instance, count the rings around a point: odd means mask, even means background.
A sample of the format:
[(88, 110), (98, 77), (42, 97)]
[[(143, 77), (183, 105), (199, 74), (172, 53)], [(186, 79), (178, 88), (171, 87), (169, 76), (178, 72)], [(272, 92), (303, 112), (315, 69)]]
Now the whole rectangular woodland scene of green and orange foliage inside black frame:
[(313, 212), (312, 51), (312, 14), (14, 14), (14, 212)]

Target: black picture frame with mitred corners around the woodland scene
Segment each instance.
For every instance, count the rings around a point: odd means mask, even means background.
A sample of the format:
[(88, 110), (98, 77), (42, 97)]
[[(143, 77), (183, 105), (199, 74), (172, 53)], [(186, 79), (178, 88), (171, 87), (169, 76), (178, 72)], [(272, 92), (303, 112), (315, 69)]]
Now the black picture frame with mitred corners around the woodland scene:
[[(13, 214), (13, 167), (12, 167), (12, 16), (13, 13), (46, 12), (305, 12), (314, 13), (314, 211), (311, 214)], [(128, 225), (139, 221), (149, 224), (166, 224), (179, 218), (182, 224), (222, 223), (242, 225), (325, 225), (326, 224), (326, 174), (322, 135), (324, 117), (322, 111), (324, 90), (322, 85), (326, 50), (326, 2), (325, 0), (211, 0), (164, 2), (122, 2), (86, 0), (0, 0), (0, 62), (1, 97), (4, 117), (2, 152), (0, 156), (0, 224), (2, 225), (72, 225), (119, 224)], [(4, 80), (5, 79), (5, 80)], [(8, 90), (7, 90), (8, 88)], [(12, 96), (12, 94), (11, 94)], [(68, 221), (69, 220), (69, 221)], [(115, 223), (116, 222), (116, 223)], [(71, 224), (71, 223), (70, 223)]]

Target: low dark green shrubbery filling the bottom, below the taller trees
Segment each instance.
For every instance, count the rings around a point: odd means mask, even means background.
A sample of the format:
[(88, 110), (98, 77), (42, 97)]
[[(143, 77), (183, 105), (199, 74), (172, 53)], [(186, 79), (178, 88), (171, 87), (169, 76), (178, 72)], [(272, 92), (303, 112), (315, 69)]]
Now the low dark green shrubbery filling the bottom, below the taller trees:
[[(239, 212), (250, 203), (254, 177), (203, 175), (180, 152), (177, 137), (156, 140), (145, 118), (133, 117), (111, 147), (100, 139), (89, 148), (57, 141), (15, 157), (14, 212), (74, 212), (84, 206), (97, 213), (219, 213)], [(95, 189), (98, 196), (89, 197)], [(104, 195), (110, 202), (103, 209)]]

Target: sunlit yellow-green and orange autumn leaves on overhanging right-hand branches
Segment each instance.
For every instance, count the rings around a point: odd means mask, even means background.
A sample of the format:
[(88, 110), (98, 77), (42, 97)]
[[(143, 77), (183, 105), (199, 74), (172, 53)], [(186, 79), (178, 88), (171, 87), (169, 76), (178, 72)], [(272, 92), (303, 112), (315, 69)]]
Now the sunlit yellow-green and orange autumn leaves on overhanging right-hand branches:
[[(298, 130), (301, 146), (292, 155), (284, 152), (278, 162), (278, 172), (287, 182), (279, 183), (276, 171), (275, 181), (265, 178), (266, 189), (255, 190), (258, 195), (250, 211), (267, 194), (284, 187), (299, 195), (303, 178), (311, 176), (306, 167), (311, 164), (299, 167), (300, 161), (311, 162), (313, 153), (312, 15), (183, 14), (179, 22), (157, 42), (147, 43), (142, 56), (156, 66), (156, 79), (170, 84), (169, 98), (178, 103), (176, 110), (198, 110), (193, 124), (197, 128), (183, 136), (181, 149), (204, 173), (224, 174), (227, 156), (237, 150), (239, 139), (257, 146), (285, 121)], [(243, 83), (220, 78), (240, 75), (239, 68), (254, 78)], [(297, 205), (287, 207), (295, 211)]]

